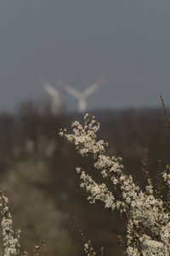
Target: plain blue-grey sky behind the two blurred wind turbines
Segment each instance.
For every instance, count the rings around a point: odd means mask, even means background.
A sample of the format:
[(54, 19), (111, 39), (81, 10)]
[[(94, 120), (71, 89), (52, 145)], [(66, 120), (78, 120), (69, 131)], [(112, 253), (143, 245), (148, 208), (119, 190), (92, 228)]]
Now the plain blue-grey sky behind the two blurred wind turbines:
[(0, 109), (48, 97), (39, 76), (83, 90), (103, 75), (108, 82), (89, 97), (89, 108), (154, 107), (160, 93), (170, 102), (168, 1), (0, 2)]

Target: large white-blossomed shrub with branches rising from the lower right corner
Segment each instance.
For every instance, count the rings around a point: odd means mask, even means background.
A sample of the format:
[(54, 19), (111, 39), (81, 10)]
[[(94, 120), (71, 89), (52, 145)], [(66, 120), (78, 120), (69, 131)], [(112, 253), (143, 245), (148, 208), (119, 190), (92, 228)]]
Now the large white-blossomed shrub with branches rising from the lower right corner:
[[(170, 216), (169, 193), (163, 200), (160, 195), (161, 186), (154, 188), (148, 172), (145, 189), (133, 182), (131, 175), (123, 172), (122, 158), (105, 154), (105, 143), (96, 140), (96, 132), (99, 131), (99, 123), (94, 116), (86, 114), (85, 123), (82, 126), (78, 121), (72, 124), (73, 133), (61, 130), (59, 135), (65, 137), (70, 143), (74, 143), (77, 152), (82, 156), (91, 155), (94, 158), (94, 168), (99, 170), (104, 183), (96, 182), (82, 167), (77, 166), (77, 173), (82, 180), (81, 187), (88, 192), (88, 201), (95, 203), (99, 200), (105, 208), (117, 209), (127, 219), (127, 248), (128, 256), (170, 255)], [(105, 178), (110, 178), (111, 191), (105, 183)], [(160, 173), (160, 181), (167, 184), (170, 190), (170, 167)], [(159, 195), (159, 196), (158, 196)], [(85, 243), (85, 252), (94, 255), (88, 250)]]

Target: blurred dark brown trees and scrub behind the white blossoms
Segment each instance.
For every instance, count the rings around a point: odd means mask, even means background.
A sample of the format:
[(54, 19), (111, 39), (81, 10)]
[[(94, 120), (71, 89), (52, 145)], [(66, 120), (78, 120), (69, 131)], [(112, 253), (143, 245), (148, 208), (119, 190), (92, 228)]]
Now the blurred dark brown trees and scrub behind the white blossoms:
[[(162, 109), (103, 110), (94, 113), (100, 122), (99, 139), (109, 142), (108, 154), (122, 156), (127, 173), (142, 186), (141, 171), (144, 148), (148, 148), (150, 176), (156, 177), (158, 160), (161, 168), (170, 163), (170, 132)], [(104, 211), (100, 203), (90, 205), (86, 192), (79, 186), (76, 166), (90, 175), (93, 162), (82, 159), (71, 144), (59, 137), (60, 127), (69, 127), (77, 113), (54, 116), (48, 105), (23, 103), (17, 114), (0, 114), (1, 187), (6, 188), (14, 226), (22, 230), (21, 243), (29, 255), (37, 244), (37, 233), (48, 238), (48, 255), (83, 255), (83, 233), (105, 255), (122, 255), (117, 235), (123, 224), (116, 212)]]

